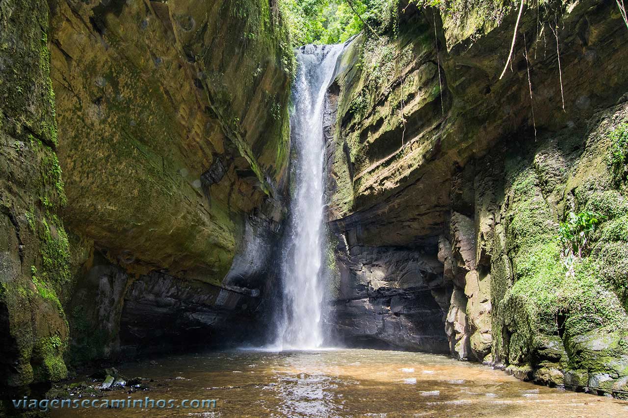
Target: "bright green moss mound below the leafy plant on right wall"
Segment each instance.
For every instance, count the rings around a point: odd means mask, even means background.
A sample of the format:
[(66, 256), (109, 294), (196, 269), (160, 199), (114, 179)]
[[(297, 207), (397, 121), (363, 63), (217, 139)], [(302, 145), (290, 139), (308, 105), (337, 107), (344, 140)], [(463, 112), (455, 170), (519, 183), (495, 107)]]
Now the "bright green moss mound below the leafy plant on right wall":
[[(511, 336), (509, 362), (530, 360), (532, 341), (540, 334), (564, 332), (565, 338), (588, 331), (628, 329), (628, 320), (617, 296), (591, 259), (577, 260), (575, 275), (565, 274), (558, 245), (550, 242), (529, 251), (528, 262), (521, 262), (519, 279), (499, 303), (499, 323), (516, 330)], [(558, 318), (563, 318), (558, 323)]]

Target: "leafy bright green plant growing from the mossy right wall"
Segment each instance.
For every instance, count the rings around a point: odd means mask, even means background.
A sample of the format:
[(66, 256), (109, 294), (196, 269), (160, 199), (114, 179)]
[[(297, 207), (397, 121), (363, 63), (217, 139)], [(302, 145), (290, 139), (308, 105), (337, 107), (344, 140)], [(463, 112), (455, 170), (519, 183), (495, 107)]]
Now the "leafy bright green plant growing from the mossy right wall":
[(575, 257), (582, 259), (589, 250), (589, 237), (601, 222), (601, 215), (595, 212), (569, 212), (567, 220), (560, 223), (558, 242), (562, 245), (561, 255), (565, 265), (570, 268)]

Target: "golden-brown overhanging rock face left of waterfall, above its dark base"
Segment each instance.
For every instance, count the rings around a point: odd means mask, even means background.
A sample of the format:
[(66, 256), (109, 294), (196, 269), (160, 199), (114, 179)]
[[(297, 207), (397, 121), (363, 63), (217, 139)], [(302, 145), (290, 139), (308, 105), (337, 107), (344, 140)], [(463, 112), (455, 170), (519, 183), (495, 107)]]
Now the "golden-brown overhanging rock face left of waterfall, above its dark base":
[(129, 269), (220, 283), (244, 216), (284, 185), (280, 16), (256, 0), (62, 1), (52, 26), (68, 227)]

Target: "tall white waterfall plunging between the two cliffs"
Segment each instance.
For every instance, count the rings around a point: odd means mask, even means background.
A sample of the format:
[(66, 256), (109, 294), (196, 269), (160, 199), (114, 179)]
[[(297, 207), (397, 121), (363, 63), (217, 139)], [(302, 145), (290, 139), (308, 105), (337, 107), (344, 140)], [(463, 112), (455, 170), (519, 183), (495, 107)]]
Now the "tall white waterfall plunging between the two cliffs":
[(290, 237), (283, 259), (284, 310), (279, 346), (310, 350), (323, 344), (323, 113), (343, 45), (307, 45), (297, 51), (291, 135), (296, 161)]

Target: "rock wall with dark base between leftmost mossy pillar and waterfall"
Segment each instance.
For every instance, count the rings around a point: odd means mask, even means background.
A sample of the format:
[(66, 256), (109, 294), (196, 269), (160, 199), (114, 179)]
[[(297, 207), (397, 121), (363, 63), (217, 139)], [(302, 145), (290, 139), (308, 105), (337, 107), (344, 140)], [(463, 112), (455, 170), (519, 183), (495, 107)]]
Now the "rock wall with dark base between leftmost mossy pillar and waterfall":
[(77, 255), (68, 358), (237, 340), (274, 274), (287, 185), (292, 51), (276, 4), (59, 1), (51, 14)]

